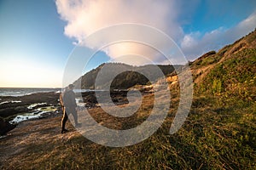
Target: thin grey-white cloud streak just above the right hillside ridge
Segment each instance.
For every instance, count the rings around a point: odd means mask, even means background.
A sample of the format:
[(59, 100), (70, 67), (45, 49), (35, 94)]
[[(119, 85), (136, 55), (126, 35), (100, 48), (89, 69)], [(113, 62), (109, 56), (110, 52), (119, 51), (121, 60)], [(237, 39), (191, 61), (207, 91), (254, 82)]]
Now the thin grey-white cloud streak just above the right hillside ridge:
[(196, 59), (201, 54), (223, 48), (224, 45), (235, 42), (240, 37), (247, 35), (255, 29), (255, 23), (256, 12), (230, 29), (220, 27), (217, 30), (207, 32), (202, 37), (199, 36), (199, 32), (184, 35), (181, 48), (188, 59)]

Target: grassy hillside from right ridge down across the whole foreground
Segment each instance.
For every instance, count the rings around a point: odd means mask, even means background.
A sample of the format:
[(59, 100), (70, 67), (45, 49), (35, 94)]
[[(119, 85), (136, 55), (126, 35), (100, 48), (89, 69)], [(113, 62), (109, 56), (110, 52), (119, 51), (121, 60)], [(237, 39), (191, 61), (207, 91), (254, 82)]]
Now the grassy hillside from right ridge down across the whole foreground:
[[(256, 169), (255, 35), (253, 31), (191, 63), (195, 82), (193, 104), (177, 133), (169, 134), (179, 101), (178, 84), (172, 83), (177, 77), (170, 76), (172, 105), (166, 121), (140, 144), (111, 148), (92, 143), (76, 132), (55, 134), (59, 130), (56, 123), (61, 120), (59, 116), (26, 127), (24, 131), (28, 133), (35, 129), (29, 135), (32, 139), (27, 139), (26, 145), (21, 144), (25, 149), (16, 151), (1, 166), (9, 169)], [(135, 116), (127, 119), (108, 116), (101, 108), (89, 111), (103, 126), (126, 129), (148, 117), (153, 99), (154, 94), (145, 95)], [(45, 127), (38, 127), (40, 123)], [(20, 136), (27, 138), (27, 133), (22, 136), (15, 131), (15, 134), (17, 137), (9, 143), (15, 143)], [(19, 144), (9, 146), (15, 148)]]

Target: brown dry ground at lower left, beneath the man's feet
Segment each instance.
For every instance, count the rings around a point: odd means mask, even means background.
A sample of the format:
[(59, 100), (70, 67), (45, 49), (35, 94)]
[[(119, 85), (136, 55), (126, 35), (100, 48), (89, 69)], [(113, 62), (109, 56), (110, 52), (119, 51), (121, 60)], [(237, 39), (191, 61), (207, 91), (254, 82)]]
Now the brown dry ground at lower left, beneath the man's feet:
[(26, 154), (31, 147), (61, 144), (79, 135), (70, 122), (67, 122), (67, 128), (70, 132), (61, 134), (61, 114), (20, 122), (5, 138), (0, 139), (0, 169), (5, 163), (10, 164), (9, 161), (20, 161), (19, 156)]

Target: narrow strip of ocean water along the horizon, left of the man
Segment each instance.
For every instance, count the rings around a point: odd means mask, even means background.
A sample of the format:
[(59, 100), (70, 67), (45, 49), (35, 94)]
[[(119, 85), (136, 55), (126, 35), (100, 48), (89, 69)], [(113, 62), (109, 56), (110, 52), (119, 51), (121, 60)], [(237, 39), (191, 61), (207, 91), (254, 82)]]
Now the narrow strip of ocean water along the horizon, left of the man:
[(61, 88), (0, 88), (0, 96), (24, 96), (47, 92), (61, 92)]

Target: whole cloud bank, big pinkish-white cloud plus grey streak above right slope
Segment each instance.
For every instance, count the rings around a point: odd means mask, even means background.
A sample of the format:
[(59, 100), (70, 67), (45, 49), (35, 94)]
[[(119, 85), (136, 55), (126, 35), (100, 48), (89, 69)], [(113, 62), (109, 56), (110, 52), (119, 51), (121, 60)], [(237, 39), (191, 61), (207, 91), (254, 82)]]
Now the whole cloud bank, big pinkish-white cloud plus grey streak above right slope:
[[(195, 2), (194, 5), (187, 8), (184, 8), (179, 1), (169, 0), (56, 0), (55, 4), (61, 19), (67, 21), (65, 35), (74, 38), (76, 43), (83, 42), (85, 37), (104, 27), (137, 23), (164, 31), (177, 42), (189, 60), (196, 59), (209, 50), (216, 50), (224, 44), (234, 42), (255, 28), (256, 13), (253, 13), (230, 29), (220, 27), (204, 35), (200, 31), (184, 33), (183, 23), (178, 20), (179, 15), (193, 11), (191, 8), (195, 8), (198, 1), (193, 2)], [(139, 33), (137, 36), (140, 36)], [(94, 46), (90, 48), (96, 48), (96, 44)], [(139, 54), (148, 55), (148, 59), (158, 63), (165, 62), (158, 57), (159, 55), (154, 55), (150, 49), (137, 43), (114, 44), (103, 48), (103, 51), (112, 59), (121, 54)]]

